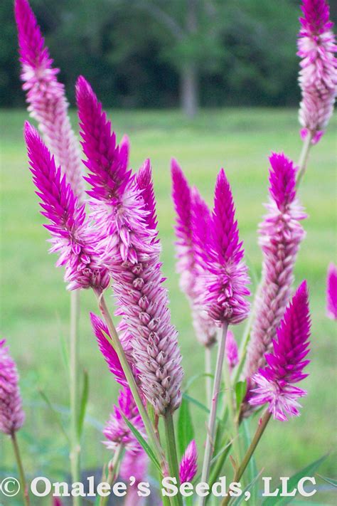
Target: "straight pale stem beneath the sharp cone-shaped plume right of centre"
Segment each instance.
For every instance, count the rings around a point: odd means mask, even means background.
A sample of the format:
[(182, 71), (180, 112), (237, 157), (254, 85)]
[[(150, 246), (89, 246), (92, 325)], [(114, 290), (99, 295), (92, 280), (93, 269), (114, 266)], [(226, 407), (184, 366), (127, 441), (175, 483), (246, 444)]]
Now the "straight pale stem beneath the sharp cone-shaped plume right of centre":
[[(218, 344), (218, 357), (215, 366), (215, 377), (213, 384), (213, 395), (212, 395), (212, 404), (210, 406), (210, 418), (208, 421), (208, 431), (207, 431), (207, 439), (206, 439), (206, 447), (205, 447), (205, 455), (203, 458), (203, 472), (201, 475), (201, 481), (207, 483), (208, 476), (210, 474), (210, 460), (213, 454), (213, 446), (215, 440), (215, 421), (216, 421), (216, 412), (218, 408), (218, 396), (220, 391), (220, 383), (221, 376), (223, 374), (223, 360), (225, 357), (225, 344), (226, 344), (226, 336), (228, 330), (228, 323), (225, 322), (223, 324), (223, 334)], [(205, 497), (200, 497), (200, 506), (205, 504)]]

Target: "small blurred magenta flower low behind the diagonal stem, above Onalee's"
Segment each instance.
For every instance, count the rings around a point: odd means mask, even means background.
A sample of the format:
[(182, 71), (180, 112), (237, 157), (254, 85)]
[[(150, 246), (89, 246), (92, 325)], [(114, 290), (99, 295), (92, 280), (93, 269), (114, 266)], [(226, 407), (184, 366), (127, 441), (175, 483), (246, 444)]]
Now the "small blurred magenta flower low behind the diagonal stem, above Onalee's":
[(107, 438), (104, 443), (110, 450), (115, 450), (119, 445), (122, 445), (129, 452), (137, 454), (141, 446), (123, 417), (127, 418), (144, 438), (146, 437), (138, 408), (134, 403), (131, 391), (127, 387), (119, 391), (118, 406), (114, 406), (109, 421), (103, 430), (103, 434)]

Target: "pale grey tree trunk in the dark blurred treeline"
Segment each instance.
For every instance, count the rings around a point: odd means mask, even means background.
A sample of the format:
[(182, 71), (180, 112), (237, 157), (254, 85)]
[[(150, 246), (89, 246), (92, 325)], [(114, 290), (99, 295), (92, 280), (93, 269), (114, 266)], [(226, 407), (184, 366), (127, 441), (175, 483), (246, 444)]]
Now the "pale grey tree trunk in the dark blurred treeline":
[(198, 112), (198, 95), (198, 69), (194, 63), (187, 63), (181, 70), (181, 107), (189, 118)]

